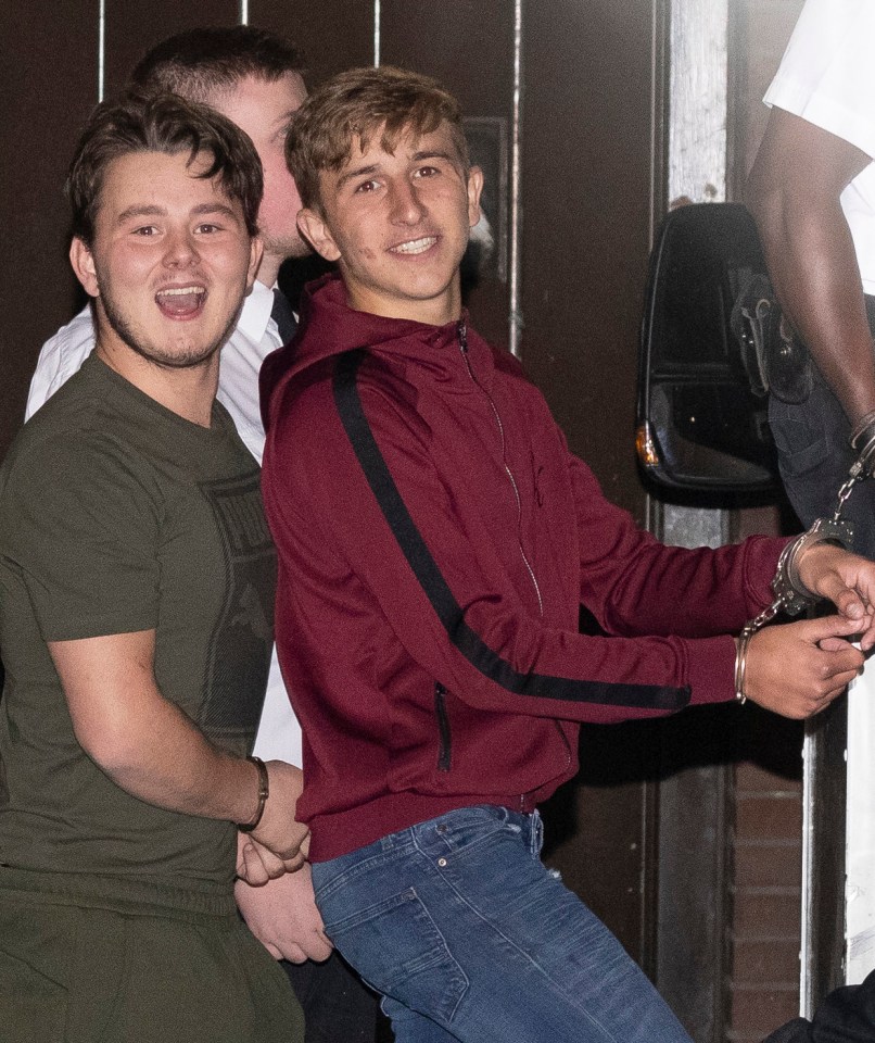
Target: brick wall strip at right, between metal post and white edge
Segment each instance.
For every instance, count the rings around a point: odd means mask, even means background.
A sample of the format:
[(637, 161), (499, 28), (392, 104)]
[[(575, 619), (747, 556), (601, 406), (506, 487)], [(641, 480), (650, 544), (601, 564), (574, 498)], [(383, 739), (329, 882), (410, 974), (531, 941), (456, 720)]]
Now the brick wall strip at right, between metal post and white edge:
[[(736, 137), (730, 184), (740, 198), (765, 129), (762, 96), (777, 71), (803, 0), (734, 7)], [(797, 531), (774, 511), (741, 512), (738, 538)], [(726, 1043), (761, 1043), (799, 1014), (802, 876), (802, 726), (754, 706), (741, 711), (734, 768), (734, 865), (728, 925)]]

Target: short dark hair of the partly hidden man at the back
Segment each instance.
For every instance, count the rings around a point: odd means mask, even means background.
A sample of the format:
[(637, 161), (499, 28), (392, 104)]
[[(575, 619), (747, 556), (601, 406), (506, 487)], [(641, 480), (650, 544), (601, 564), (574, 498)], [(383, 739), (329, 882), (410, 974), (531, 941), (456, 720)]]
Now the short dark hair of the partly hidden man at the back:
[(211, 26), (162, 40), (140, 59), (129, 83), (141, 90), (170, 90), (210, 103), (245, 76), (272, 81), (302, 71), (301, 51), (266, 29)]

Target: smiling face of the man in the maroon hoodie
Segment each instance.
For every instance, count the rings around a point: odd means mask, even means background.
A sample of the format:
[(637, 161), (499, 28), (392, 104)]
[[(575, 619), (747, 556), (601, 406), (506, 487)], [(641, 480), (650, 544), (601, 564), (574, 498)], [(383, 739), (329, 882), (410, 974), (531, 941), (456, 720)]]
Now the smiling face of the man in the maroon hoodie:
[(392, 318), (443, 325), (461, 313), (459, 263), (480, 215), (483, 176), (466, 174), (449, 127), (402, 136), (394, 154), (371, 135), (355, 139), (339, 172), (319, 175), (320, 210), (302, 231), (337, 261), (350, 305)]

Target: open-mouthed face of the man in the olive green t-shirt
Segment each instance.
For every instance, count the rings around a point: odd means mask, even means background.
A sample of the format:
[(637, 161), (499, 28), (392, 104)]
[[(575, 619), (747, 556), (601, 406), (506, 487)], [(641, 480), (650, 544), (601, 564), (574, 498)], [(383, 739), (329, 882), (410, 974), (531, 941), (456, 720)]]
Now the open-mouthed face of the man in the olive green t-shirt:
[(98, 352), (157, 366), (210, 363), (237, 322), (261, 259), (240, 203), (196, 175), (203, 153), (132, 152), (106, 167), (91, 246), (71, 261), (97, 299)]

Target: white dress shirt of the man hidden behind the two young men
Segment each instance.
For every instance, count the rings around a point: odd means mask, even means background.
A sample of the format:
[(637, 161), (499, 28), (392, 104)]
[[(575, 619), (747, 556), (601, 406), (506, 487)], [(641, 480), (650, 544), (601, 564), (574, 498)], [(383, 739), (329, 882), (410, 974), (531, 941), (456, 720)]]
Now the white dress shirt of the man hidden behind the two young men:
[[(258, 405), (258, 370), (265, 356), (281, 347), (277, 324), (270, 318), (274, 291), (255, 282), (243, 302), (240, 319), (221, 349), (218, 400), (231, 414), (237, 430), (261, 466), (264, 428)], [(25, 418), (51, 398), (85, 362), (94, 348), (91, 309), (86, 306), (42, 347), (30, 381)], [(255, 754), (265, 761), (301, 765), (301, 727), (292, 711), (274, 649), (264, 711), (255, 737)]]

